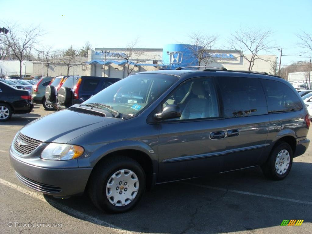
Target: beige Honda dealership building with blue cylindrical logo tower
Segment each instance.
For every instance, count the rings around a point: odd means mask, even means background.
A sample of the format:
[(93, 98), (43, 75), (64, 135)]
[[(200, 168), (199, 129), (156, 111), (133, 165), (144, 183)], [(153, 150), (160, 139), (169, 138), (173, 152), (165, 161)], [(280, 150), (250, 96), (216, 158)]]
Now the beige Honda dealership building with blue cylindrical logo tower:
[[(86, 64), (90, 66), (90, 76), (110, 76), (124, 78), (128, 76), (128, 64), (131, 73), (141, 71), (152, 71), (159, 69), (175, 69), (177, 67), (197, 66), (196, 56), (198, 46), (187, 44), (168, 44), (163, 48), (95, 48), (89, 50)], [(250, 58), (251, 55), (244, 55)], [(247, 71), (249, 62), (240, 51), (235, 50), (213, 50), (207, 53), (206, 64), (226, 68), (228, 70)], [(271, 72), (271, 63), (275, 61), (275, 55), (259, 55), (252, 67), (252, 71)]]

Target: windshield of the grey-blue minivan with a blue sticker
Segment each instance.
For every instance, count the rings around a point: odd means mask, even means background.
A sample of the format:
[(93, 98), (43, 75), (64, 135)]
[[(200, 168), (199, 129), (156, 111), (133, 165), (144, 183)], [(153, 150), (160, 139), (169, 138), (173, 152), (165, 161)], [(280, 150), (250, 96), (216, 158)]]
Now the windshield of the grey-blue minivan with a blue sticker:
[[(120, 80), (84, 104), (104, 104), (123, 115), (136, 115), (178, 80), (164, 74), (136, 74)], [(105, 107), (98, 105), (99, 108)]]

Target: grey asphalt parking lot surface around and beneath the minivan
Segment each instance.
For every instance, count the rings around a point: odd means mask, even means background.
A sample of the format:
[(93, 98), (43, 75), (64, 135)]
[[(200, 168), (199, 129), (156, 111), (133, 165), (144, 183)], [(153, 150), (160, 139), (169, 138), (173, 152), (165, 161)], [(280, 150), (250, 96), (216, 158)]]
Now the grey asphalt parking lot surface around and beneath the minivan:
[[(294, 159), (283, 181), (267, 180), (260, 168), (249, 168), (167, 183), (145, 193), (132, 211), (106, 214), (86, 195), (43, 196), (15, 177), (8, 156), (12, 139), (25, 124), (50, 113), (35, 105), (30, 114), (0, 123), (0, 233), (312, 233), (312, 144)], [(49, 128), (53, 125), (42, 130)], [(284, 219), (304, 222), (280, 226)]]

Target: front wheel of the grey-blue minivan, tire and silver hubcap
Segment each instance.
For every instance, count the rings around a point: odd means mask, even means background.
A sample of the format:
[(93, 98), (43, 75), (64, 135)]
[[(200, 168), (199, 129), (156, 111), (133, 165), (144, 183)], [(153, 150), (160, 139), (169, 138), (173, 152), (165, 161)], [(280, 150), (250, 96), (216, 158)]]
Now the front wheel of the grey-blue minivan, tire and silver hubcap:
[(132, 158), (115, 156), (96, 166), (89, 181), (93, 204), (106, 212), (121, 213), (137, 205), (146, 188), (146, 176)]

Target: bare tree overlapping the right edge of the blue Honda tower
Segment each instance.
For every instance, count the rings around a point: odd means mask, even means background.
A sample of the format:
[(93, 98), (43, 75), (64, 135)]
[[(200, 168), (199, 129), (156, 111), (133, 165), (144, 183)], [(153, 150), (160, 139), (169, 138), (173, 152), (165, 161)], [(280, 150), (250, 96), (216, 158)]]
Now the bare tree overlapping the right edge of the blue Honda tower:
[(205, 66), (213, 62), (211, 52), (213, 52), (213, 47), (217, 41), (218, 36), (212, 36), (202, 33), (196, 33), (189, 35), (191, 39), (191, 46), (189, 50), (192, 52), (193, 56), (198, 62), (198, 66), (201, 66), (202, 62)]

